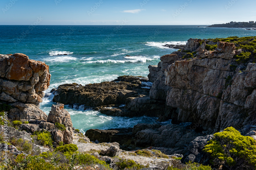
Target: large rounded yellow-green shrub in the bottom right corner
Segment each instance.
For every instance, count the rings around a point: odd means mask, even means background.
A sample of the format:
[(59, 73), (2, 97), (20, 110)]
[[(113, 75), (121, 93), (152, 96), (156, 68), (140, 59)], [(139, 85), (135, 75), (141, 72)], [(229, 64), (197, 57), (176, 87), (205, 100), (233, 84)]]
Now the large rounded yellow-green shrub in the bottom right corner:
[(211, 163), (214, 165), (230, 169), (256, 168), (256, 141), (250, 136), (242, 136), (233, 127), (215, 133), (203, 151), (211, 156)]

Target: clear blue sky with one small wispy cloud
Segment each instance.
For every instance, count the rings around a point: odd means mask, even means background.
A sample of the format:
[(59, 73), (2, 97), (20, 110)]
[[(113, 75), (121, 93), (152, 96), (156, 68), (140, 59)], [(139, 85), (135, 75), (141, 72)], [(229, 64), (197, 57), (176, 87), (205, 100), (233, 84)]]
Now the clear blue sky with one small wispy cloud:
[(255, 7), (255, 0), (1, 0), (0, 25), (211, 25), (256, 21)]

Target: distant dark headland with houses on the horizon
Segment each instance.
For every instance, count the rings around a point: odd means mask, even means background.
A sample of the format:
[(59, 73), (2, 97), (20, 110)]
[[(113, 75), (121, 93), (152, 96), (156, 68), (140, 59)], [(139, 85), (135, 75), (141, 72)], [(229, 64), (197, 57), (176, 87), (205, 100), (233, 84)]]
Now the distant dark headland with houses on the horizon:
[(214, 24), (208, 27), (225, 27), (225, 28), (255, 28), (256, 22), (249, 21), (249, 22), (229, 22), (226, 24)]

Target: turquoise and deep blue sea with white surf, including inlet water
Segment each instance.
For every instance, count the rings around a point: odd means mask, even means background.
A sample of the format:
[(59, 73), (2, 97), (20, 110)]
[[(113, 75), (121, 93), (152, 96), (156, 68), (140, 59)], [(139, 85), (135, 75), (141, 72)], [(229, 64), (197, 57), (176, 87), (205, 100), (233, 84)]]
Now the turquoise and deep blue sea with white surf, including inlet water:
[[(0, 54), (23, 53), (30, 59), (44, 61), (52, 75), (51, 85), (45, 91), (49, 93), (65, 83), (85, 85), (111, 81), (120, 75), (147, 76), (148, 65), (157, 64), (162, 55), (177, 50), (163, 47), (165, 44), (186, 44), (189, 38), (256, 35), (256, 31), (240, 28), (197, 26), (0, 25)], [(52, 98), (44, 98), (40, 106), (47, 114)], [(65, 108), (71, 114), (73, 126), (84, 132), (91, 128), (156, 123), (155, 117), (111, 117), (97, 111)]]

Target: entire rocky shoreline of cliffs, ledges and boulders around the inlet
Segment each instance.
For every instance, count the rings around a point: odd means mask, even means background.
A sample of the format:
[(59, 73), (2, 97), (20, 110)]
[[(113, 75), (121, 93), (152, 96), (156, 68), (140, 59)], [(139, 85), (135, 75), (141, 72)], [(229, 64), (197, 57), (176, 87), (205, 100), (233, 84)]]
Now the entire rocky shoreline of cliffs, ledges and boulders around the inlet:
[[(132, 154), (147, 148), (184, 155), (182, 163), (207, 164), (209, 159), (202, 149), (216, 132), (232, 126), (256, 140), (256, 64), (250, 60), (238, 63), (235, 57), (245, 51), (233, 43), (191, 38), (179, 48), (162, 56), (158, 65), (149, 66), (148, 78), (120, 76), (112, 82), (63, 84), (52, 89), (57, 104), (48, 115), (39, 109), (39, 103), (50, 85), (49, 66), (24, 54), (0, 55), (0, 104), (12, 107), (8, 111), (11, 121), (28, 122), (19, 126), (25, 136), (48, 131), (54, 147), (61, 142), (75, 143), (80, 151), (98, 142), (110, 143), (101, 148), (103, 155), (114, 156), (119, 149), (122, 154)], [(64, 104), (111, 116), (147, 115), (158, 117), (158, 122), (171, 119), (172, 124), (90, 129), (80, 135), (86, 141), (83, 144), (78, 142), (81, 137), (73, 140), (77, 132)], [(90, 141), (94, 143), (87, 145)]]

